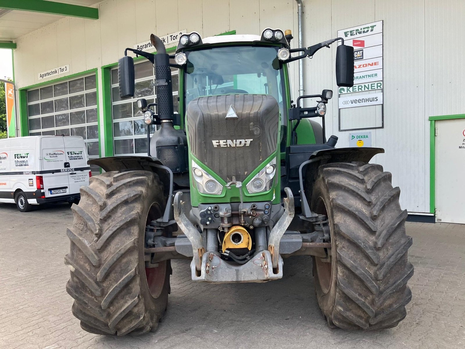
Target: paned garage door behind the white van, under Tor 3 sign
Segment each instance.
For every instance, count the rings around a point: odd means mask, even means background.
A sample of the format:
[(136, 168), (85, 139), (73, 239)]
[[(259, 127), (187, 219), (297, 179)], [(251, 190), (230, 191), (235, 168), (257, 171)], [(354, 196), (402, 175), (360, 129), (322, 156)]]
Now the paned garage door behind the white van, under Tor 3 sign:
[[(81, 136), (90, 159), (99, 157), (95, 74), (27, 90), (29, 135)], [(98, 173), (97, 166), (91, 166)]]

